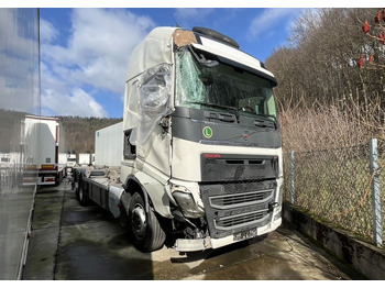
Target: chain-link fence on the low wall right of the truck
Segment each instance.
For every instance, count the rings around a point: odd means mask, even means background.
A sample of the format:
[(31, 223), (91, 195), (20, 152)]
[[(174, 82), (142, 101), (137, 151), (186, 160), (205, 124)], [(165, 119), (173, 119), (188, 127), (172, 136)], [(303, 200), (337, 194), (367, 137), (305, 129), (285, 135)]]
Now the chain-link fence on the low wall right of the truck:
[[(330, 221), (333, 225), (374, 243), (372, 186), (378, 174), (371, 173), (370, 151), (370, 144), (363, 144), (327, 151), (285, 153), (285, 200), (308, 210), (316, 218)], [(378, 165), (376, 171), (380, 173), (381, 213), (384, 220), (384, 142), (378, 142)], [(384, 221), (381, 225), (384, 239)]]

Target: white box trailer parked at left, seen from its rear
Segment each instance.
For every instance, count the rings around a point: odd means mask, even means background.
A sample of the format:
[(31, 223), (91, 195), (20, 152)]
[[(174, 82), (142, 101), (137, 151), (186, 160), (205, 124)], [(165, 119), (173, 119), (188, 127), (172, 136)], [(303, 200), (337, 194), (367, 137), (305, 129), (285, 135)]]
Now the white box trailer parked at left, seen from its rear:
[[(37, 149), (25, 163), (33, 164), (37, 170), (37, 185), (61, 184), (65, 176), (65, 167), (59, 164), (58, 156), (64, 151), (64, 129), (58, 118), (26, 115), (25, 139), (34, 137)], [(28, 174), (24, 177), (29, 179)]]

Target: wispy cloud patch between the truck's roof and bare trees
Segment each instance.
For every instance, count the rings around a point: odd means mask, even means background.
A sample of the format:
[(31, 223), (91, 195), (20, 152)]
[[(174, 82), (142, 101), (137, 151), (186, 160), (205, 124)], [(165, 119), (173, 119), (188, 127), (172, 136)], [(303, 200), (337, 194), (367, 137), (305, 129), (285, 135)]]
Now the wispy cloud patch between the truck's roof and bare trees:
[(254, 40), (263, 33), (273, 31), (274, 27), (284, 24), (285, 30), (290, 30), (293, 21), (299, 15), (301, 9), (270, 8), (255, 16), (249, 26), (249, 38)]

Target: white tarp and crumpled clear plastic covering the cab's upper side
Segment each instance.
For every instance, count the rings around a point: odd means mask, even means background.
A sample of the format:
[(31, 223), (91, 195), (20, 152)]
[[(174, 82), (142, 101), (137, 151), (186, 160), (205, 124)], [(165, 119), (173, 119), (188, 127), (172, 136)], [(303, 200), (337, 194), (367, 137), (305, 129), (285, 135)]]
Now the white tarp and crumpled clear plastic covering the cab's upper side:
[(124, 120), (124, 129), (133, 128), (132, 145), (144, 145), (158, 121), (170, 112), (173, 33), (176, 29), (154, 29), (132, 52), (127, 90), (130, 97), (125, 108), (125, 113), (129, 110), (131, 113)]

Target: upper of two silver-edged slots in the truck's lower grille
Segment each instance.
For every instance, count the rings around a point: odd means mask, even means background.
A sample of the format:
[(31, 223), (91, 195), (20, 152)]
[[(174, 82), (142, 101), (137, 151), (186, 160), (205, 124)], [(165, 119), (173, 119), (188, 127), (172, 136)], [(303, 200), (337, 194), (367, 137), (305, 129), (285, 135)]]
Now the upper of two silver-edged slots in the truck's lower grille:
[(274, 190), (252, 191), (246, 193), (232, 193), (210, 197), (210, 206), (217, 209), (230, 209), (243, 206), (257, 204), (270, 200)]

